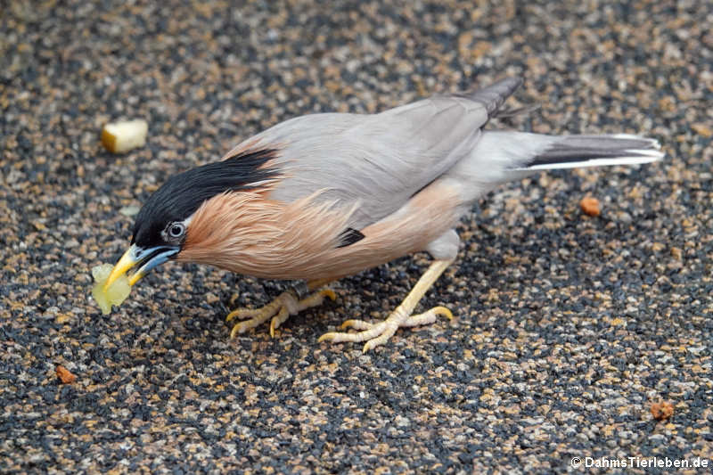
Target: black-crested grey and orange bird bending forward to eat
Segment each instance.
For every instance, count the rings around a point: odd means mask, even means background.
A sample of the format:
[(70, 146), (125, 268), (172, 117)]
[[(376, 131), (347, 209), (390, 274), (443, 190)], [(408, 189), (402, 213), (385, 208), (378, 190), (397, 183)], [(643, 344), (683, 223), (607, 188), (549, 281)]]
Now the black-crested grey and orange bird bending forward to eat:
[(135, 217), (131, 242), (105, 283), (136, 267), (134, 285), (173, 260), (294, 281), (272, 302), (227, 315), (231, 338), (336, 299), (337, 279), (426, 251), (428, 269), (385, 319), (350, 319), (319, 341), (385, 344), (401, 327), (452, 319), (414, 309), (457, 257), (455, 226), (497, 185), (541, 170), (660, 160), (636, 135), (543, 135), (487, 127), (523, 82), (437, 94), (374, 114), (315, 113), (238, 143), (220, 160), (175, 176)]

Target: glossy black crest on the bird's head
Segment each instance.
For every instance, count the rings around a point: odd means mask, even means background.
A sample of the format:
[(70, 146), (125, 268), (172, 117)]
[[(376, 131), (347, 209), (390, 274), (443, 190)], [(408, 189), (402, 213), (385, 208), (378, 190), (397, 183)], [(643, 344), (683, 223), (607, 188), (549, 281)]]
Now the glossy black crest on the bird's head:
[(136, 216), (131, 242), (143, 248), (160, 245), (160, 232), (166, 225), (190, 217), (203, 201), (223, 192), (255, 189), (274, 178), (277, 171), (264, 166), (275, 158), (276, 152), (274, 149), (249, 150), (171, 176), (143, 203)]

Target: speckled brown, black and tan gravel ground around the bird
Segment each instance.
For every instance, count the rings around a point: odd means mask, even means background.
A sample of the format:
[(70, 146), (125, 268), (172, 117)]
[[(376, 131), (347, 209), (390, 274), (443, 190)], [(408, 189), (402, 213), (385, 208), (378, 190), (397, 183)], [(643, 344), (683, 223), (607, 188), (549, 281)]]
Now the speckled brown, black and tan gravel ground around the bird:
[[(710, 467), (712, 30), (703, 0), (0, 4), (0, 471)], [(491, 127), (650, 135), (668, 156), (484, 197), (422, 302), (456, 323), (365, 356), (316, 342), (383, 318), (426, 255), (344, 279), (275, 339), (229, 340), (224, 317), (235, 292), (259, 306), (283, 283), (173, 264), (111, 315), (87, 298), (89, 268), (119, 257), (135, 207), (176, 171), (299, 114), (512, 74), (526, 82), (509, 103), (542, 107)], [(111, 155), (99, 132), (122, 118), (147, 119), (148, 143)], [(613, 471), (666, 471), (641, 463)]]

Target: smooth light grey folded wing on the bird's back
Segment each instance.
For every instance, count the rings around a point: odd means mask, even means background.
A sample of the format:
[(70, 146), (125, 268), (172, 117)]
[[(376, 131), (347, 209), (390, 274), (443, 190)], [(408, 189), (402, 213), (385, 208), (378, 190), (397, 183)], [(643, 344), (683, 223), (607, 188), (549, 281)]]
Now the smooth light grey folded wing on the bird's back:
[(289, 202), (319, 191), (319, 201), (356, 207), (349, 226), (363, 229), (467, 156), (519, 85), (507, 78), (473, 94), (434, 96), (374, 115), (303, 116), (250, 142), (280, 150), (275, 166), (283, 180), (271, 198)]

